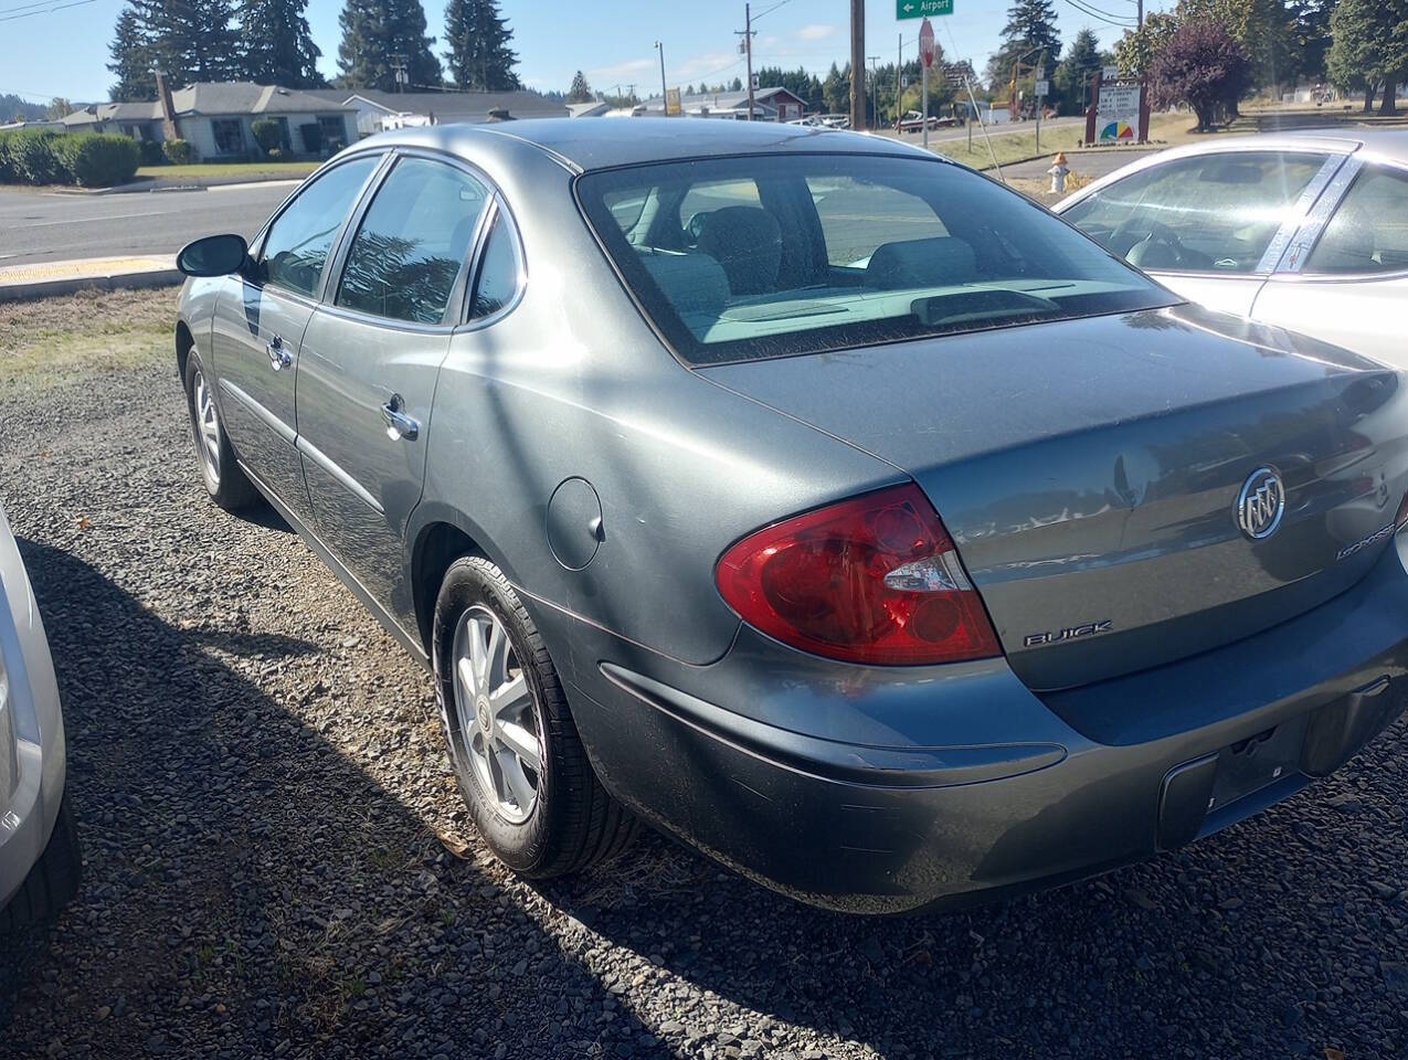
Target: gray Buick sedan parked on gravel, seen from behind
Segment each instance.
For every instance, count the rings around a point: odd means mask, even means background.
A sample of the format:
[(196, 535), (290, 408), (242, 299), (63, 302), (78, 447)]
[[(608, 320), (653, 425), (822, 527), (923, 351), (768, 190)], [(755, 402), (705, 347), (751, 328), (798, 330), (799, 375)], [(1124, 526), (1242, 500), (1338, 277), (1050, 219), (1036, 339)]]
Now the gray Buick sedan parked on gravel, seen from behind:
[(993, 898), (1404, 708), (1400, 376), (915, 148), (403, 130), (180, 266), (206, 488), (434, 671), (525, 876), (643, 818), (818, 905)]

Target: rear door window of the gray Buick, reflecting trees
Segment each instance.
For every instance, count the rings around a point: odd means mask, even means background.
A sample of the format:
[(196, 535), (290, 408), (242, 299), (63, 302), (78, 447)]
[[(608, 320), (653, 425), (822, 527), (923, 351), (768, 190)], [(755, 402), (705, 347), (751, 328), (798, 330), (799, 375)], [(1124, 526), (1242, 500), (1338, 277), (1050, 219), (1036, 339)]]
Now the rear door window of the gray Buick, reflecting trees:
[(487, 201), (489, 190), (462, 169), (403, 158), (362, 218), (337, 304), (439, 324)]

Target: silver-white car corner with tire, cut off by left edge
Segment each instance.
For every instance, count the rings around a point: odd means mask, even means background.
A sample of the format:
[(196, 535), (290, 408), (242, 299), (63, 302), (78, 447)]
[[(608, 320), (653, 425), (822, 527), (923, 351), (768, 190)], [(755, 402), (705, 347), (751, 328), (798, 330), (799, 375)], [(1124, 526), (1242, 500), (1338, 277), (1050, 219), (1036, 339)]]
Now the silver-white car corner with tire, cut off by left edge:
[(77, 891), (63, 718), (49, 642), (0, 511), (0, 930), (46, 919)]

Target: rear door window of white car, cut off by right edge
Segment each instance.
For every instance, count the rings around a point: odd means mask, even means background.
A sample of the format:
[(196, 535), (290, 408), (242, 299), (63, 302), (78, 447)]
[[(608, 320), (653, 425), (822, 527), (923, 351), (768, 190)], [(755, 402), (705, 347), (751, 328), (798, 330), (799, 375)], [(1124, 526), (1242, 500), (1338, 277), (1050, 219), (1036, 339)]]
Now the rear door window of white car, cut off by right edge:
[(1305, 262), (1308, 273), (1408, 269), (1408, 173), (1364, 166)]

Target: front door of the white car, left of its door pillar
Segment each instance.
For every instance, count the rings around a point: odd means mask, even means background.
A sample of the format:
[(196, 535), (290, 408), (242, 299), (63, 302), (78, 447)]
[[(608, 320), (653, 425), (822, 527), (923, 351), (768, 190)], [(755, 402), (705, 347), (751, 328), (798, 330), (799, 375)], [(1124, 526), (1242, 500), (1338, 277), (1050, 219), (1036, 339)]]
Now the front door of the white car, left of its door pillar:
[(1316, 151), (1174, 158), (1062, 217), (1188, 301), (1246, 317), (1343, 159)]

